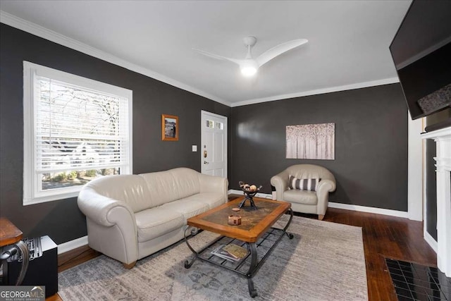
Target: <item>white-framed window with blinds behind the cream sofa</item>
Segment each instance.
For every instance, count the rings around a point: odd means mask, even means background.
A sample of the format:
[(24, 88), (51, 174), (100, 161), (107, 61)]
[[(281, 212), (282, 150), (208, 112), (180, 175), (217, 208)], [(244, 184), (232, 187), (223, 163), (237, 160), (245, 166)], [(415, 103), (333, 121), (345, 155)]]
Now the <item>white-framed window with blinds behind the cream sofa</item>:
[(23, 62), (23, 204), (132, 173), (132, 91)]

